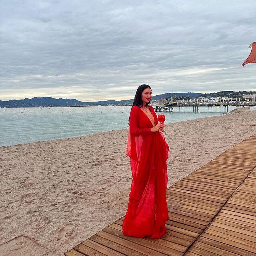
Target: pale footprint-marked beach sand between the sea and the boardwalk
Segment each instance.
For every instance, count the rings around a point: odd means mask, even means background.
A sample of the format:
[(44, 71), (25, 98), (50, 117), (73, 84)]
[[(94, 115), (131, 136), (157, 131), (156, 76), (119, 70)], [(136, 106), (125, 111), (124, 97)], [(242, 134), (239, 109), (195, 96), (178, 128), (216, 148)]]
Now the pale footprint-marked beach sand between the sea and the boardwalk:
[[(256, 133), (256, 111), (233, 112), (166, 124), (168, 187)], [(132, 182), (127, 134), (1, 147), (1, 256), (63, 255), (124, 216)]]

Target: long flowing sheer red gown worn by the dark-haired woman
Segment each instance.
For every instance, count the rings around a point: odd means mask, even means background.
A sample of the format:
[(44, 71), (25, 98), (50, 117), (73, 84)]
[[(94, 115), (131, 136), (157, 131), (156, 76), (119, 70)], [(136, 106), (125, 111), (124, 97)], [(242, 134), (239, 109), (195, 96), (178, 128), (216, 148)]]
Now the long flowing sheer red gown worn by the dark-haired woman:
[[(149, 106), (149, 109), (158, 124), (154, 108)], [(160, 238), (166, 232), (169, 146), (163, 133), (152, 132), (152, 127), (146, 113), (133, 106), (126, 148), (132, 170), (128, 209), (122, 224), (126, 236)]]

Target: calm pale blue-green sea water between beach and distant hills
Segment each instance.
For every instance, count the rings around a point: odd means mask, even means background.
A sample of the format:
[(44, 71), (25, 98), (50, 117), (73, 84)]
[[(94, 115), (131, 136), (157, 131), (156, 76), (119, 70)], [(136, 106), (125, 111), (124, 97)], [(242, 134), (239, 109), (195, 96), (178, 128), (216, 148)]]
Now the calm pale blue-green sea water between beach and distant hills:
[[(228, 107), (228, 111), (236, 107)], [(84, 136), (96, 132), (126, 129), (131, 106), (0, 108), (0, 146), (38, 140)], [(165, 123), (191, 120), (223, 113), (223, 107), (199, 107), (200, 113), (185, 107), (179, 112), (166, 112)]]

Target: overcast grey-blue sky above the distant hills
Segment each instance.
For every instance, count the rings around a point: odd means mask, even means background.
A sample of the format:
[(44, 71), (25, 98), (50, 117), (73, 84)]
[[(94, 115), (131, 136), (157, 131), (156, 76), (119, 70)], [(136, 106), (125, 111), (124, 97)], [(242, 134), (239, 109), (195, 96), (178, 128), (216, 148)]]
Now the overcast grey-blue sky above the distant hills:
[(0, 100), (256, 90), (256, 1), (1, 0)]

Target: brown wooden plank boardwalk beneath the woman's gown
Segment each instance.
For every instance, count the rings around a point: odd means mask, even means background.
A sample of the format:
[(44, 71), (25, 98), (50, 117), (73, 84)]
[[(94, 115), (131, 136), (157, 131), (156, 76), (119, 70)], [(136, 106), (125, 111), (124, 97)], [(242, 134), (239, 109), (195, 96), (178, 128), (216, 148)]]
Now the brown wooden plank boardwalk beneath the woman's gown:
[(66, 256), (256, 256), (256, 135), (166, 190), (159, 239), (124, 236), (116, 220)]

